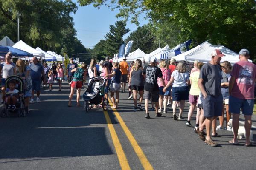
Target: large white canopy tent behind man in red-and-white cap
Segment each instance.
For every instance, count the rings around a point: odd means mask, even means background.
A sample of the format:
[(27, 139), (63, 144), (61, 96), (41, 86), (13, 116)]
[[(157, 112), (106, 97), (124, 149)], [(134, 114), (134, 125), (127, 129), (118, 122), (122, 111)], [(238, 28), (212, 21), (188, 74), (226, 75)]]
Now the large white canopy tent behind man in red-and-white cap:
[(226, 55), (222, 57), (221, 62), (229, 61), (233, 65), (239, 61), (239, 54), (235, 53), (234, 51), (231, 51), (223, 45), (212, 45), (208, 41), (203, 42), (195, 48), (192, 48), (191, 50), (186, 51), (172, 58), (176, 59), (176, 61), (193, 62), (195, 60), (199, 60), (201, 62), (209, 62), (211, 60), (211, 53), (214, 49), (218, 49), (224, 55)]

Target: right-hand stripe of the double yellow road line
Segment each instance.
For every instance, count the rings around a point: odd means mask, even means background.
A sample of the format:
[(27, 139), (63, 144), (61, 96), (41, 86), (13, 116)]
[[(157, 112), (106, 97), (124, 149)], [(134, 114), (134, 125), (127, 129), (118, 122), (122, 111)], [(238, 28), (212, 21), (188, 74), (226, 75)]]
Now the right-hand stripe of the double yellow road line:
[[(110, 105), (113, 106), (113, 103), (111, 102), (111, 100), (108, 100)], [(126, 126), (125, 122), (123, 121), (122, 117), (119, 115), (119, 113), (116, 111), (116, 109), (113, 109), (113, 113), (115, 114), (118, 122), (120, 123), (120, 125), (122, 126), (122, 129), (124, 130), (126, 136), (128, 137), (132, 147), (134, 148), (135, 153), (137, 154), (137, 156), (140, 159), (141, 164), (143, 165), (145, 170), (154, 170), (152, 165), (150, 164), (150, 162), (148, 161), (147, 157), (145, 156), (145, 154), (143, 153), (143, 150), (140, 148), (139, 144), (137, 143), (137, 141), (135, 140), (134, 136), (131, 134), (130, 130), (128, 129), (128, 127)]]

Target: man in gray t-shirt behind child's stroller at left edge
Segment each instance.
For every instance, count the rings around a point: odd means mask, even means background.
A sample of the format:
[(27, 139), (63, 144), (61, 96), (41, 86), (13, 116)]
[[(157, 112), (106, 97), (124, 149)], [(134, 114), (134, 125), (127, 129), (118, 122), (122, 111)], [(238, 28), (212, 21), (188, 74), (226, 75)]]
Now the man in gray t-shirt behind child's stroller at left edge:
[(2, 89), (2, 99), (3, 102), (5, 100), (5, 95), (6, 95), (6, 79), (9, 76), (15, 75), (16, 74), (16, 65), (12, 62), (12, 54), (8, 52), (5, 55), (5, 62), (1, 63), (0, 65), (0, 72), (3, 71), (3, 75), (1, 78), (1, 89)]

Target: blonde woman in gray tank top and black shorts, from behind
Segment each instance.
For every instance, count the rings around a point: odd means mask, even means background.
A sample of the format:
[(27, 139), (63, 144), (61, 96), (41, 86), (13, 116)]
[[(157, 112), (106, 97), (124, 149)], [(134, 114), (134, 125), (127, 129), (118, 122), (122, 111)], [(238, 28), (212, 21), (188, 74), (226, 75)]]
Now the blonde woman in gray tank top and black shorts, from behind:
[[(143, 111), (141, 107), (141, 102), (143, 100), (143, 90), (144, 90), (144, 77), (142, 75), (143, 67), (140, 59), (137, 59), (134, 65), (131, 67), (130, 76), (129, 76), (129, 85), (133, 92), (134, 100), (134, 111), (137, 111), (139, 108)], [(137, 93), (139, 92), (139, 105), (137, 105)]]

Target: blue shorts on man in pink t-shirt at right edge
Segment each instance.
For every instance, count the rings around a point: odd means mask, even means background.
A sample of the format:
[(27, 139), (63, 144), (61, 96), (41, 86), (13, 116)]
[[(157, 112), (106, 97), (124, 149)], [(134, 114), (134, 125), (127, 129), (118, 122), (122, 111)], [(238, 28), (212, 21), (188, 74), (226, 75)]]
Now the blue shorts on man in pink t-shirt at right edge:
[(240, 114), (240, 110), (242, 109), (242, 113), (244, 115), (251, 116), (253, 114), (253, 99), (239, 99), (234, 96), (229, 97), (229, 112), (233, 114)]

